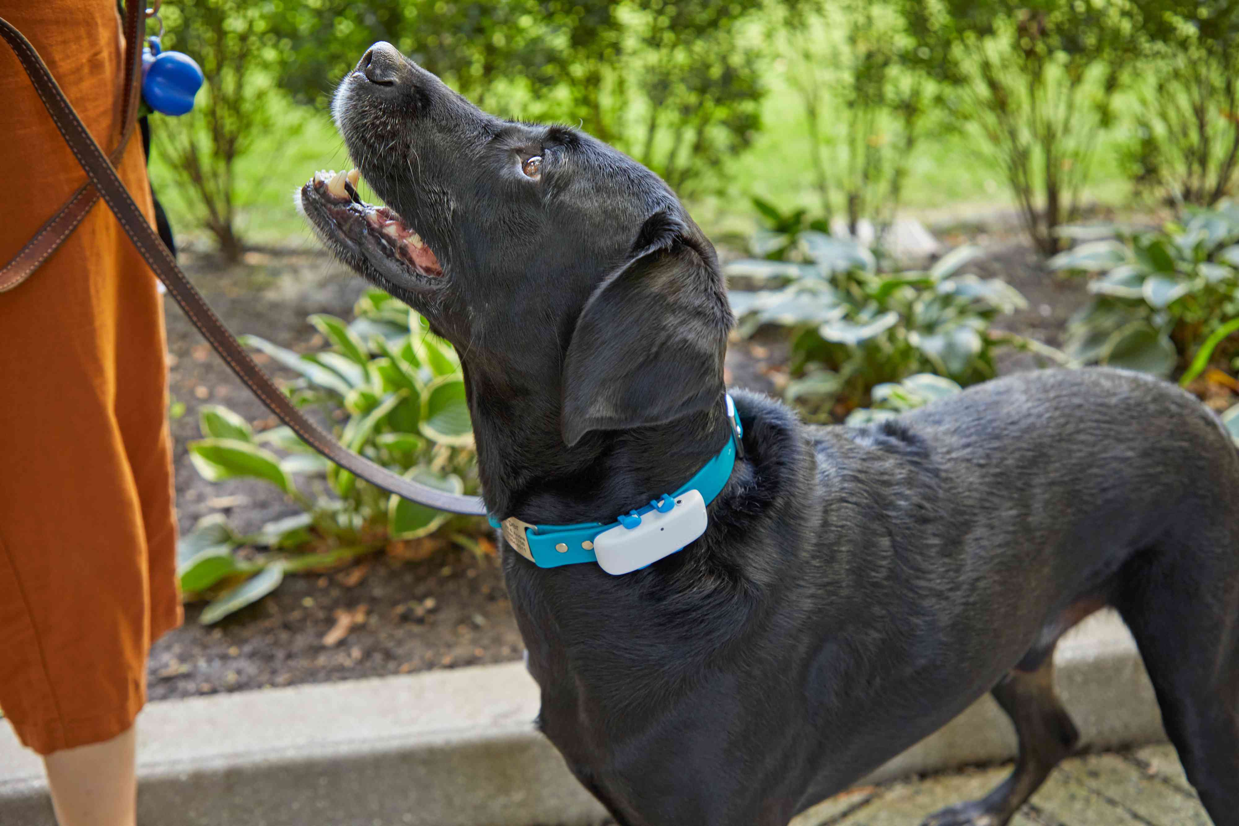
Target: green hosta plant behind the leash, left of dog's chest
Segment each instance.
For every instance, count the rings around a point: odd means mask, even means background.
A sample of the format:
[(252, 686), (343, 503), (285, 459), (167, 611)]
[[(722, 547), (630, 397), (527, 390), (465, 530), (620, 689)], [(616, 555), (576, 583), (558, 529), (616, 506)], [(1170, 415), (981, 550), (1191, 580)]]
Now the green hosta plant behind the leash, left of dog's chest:
[[(349, 450), (452, 493), (477, 488), (473, 435), (460, 360), (421, 318), (385, 292), (368, 291), (354, 320), (311, 316), (330, 348), (299, 354), (256, 336), (248, 347), (294, 370), (285, 390), (339, 422)], [(392, 541), (420, 539), (455, 520), (462, 544), (481, 525), (388, 494), (326, 461), (289, 427), (254, 432), (221, 406), (199, 411), (202, 438), (188, 445), (203, 478), (261, 479), (301, 513), (249, 536), (208, 518), (181, 540), (178, 573), (187, 593), (221, 591), (203, 611), (212, 623), (270, 593), (286, 571), (330, 567)], [(239, 556), (242, 546), (266, 549)]]

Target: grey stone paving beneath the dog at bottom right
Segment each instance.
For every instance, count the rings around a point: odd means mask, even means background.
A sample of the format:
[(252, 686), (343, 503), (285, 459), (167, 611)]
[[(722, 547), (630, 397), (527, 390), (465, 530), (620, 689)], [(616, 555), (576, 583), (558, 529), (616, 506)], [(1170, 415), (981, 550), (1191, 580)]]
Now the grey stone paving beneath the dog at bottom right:
[[(854, 789), (790, 826), (918, 826), (944, 806), (975, 800), (1011, 765)], [(1011, 826), (1211, 826), (1170, 746), (1064, 760)]]

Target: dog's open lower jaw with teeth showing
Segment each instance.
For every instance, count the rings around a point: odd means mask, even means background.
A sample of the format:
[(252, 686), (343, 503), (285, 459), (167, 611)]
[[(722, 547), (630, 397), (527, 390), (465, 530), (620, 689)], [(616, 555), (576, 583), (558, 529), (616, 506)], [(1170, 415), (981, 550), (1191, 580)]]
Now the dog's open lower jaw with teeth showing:
[[(359, 256), (383, 275), (439, 279), (444, 274), (435, 253), (389, 207), (366, 203), (357, 194), (357, 170), (315, 172), (301, 187), (301, 209), (342, 256)], [(357, 261), (347, 261), (357, 264)]]

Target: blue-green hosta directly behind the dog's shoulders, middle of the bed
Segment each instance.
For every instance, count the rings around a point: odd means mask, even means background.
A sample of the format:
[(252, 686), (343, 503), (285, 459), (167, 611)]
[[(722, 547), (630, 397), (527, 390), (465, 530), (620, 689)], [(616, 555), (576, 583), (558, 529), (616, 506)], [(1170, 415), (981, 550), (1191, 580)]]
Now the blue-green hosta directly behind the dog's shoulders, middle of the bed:
[(865, 405), (878, 384), (935, 373), (960, 385), (994, 375), (1000, 343), (990, 324), (1025, 307), (1023, 296), (1000, 279), (964, 267), (980, 250), (961, 246), (926, 271), (878, 271), (873, 255), (851, 240), (802, 232), (802, 261), (742, 260), (730, 276), (768, 289), (732, 291), (740, 334), (768, 324), (792, 339), (788, 401), (813, 419)]

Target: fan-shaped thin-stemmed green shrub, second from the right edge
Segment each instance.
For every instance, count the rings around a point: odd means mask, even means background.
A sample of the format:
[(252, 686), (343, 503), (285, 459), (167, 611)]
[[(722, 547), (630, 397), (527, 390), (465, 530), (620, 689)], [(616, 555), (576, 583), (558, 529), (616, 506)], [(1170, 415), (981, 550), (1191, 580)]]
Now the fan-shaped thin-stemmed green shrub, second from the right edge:
[(948, 56), (961, 114), (979, 128), (1046, 255), (1079, 212), (1098, 136), (1135, 41), (1129, 0), (909, 4), (927, 48)]

